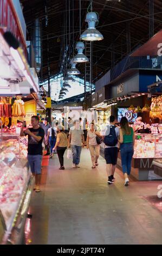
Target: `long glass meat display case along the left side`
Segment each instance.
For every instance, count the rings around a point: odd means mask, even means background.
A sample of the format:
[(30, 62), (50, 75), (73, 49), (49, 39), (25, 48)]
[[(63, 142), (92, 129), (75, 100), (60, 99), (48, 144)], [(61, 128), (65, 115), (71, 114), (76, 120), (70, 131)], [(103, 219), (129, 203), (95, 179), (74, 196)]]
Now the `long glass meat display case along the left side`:
[(27, 161), (27, 142), (0, 135), (0, 244), (21, 243), (34, 178)]

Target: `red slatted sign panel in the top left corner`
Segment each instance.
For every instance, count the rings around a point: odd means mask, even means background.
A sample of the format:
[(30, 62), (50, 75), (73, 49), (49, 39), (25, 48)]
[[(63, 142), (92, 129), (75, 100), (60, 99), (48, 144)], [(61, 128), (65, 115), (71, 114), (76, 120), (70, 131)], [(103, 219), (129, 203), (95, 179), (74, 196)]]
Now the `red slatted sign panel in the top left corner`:
[(23, 50), (26, 53), (23, 32), (11, 0), (0, 1), (0, 27), (6, 27), (8, 31), (12, 32), (18, 41), (21, 42)]

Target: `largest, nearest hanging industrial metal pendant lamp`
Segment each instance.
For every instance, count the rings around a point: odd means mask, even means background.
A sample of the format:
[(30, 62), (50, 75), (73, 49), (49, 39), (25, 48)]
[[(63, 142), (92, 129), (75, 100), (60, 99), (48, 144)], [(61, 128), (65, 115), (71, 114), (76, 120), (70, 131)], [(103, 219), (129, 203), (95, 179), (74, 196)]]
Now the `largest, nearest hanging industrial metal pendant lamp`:
[(80, 36), (81, 40), (85, 41), (100, 41), (103, 35), (95, 28), (95, 23), (99, 22), (98, 15), (94, 11), (90, 11), (86, 15), (86, 22), (88, 22), (88, 29)]

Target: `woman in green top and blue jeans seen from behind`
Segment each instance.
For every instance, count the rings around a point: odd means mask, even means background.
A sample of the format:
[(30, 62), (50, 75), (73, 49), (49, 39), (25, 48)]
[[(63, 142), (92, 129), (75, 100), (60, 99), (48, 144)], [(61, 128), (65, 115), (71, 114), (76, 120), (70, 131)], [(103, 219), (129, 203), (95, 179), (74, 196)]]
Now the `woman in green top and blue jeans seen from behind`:
[(134, 153), (134, 131), (133, 128), (129, 126), (126, 117), (122, 117), (120, 120), (120, 154), (121, 154), (121, 164), (122, 172), (124, 173), (125, 186), (129, 185), (128, 176), (131, 173), (131, 162)]

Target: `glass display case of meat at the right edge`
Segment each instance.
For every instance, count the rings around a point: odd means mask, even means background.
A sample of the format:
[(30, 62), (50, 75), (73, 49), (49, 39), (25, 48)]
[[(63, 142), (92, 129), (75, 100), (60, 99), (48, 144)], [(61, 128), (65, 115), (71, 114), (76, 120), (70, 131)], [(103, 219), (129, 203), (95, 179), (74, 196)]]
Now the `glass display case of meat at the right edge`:
[(138, 133), (135, 135), (134, 158), (161, 158), (162, 134)]

